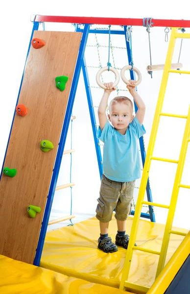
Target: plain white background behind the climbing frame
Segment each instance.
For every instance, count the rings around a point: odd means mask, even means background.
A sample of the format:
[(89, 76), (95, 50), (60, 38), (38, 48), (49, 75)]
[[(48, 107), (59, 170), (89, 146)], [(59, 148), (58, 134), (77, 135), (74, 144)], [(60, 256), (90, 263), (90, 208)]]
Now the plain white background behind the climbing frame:
[[(25, 57), (28, 49), (32, 23), (30, 15), (65, 15), (65, 16), (96, 16), (96, 17), (121, 17), (121, 18), (144, 18), (153, 17), (155, 19), (186, 19), (190, 20), (189, 2), (183, 1), (49, 1), (33, 0), (28, 1), (7, 1), (0, 4), (1, 11), (1, 54), (0, 54), (0, 167), (2, 166), (4, 153), (7, 146), (9, 131), (16, 106), (20, 82), (23, 74)], [(45, 24), (46, 30), (69, 30), (73, 31), (72, 25)], [(97, 27), (97, 26), (96, 26)], [(102, 26), (101, 26), (102, 27)], [(106, 26), (104, 26), (106, 27)], [(116, 27), (113, 27), (116, 28)], [(119, 27), (121, 29), (121, 27)], [(40, 25), (39, 29), (42, 29)], [(154, 27), (151, 29), (151, 53), (152, 64), (164, 64), (168, 43), (165, 42), (165, 27)], [(187, 29), (186, 32), (190, 32)], [(170, 36), (170, 33), (169, 33)], [(100, 45), (108, 45), (108, 35), (97, 35)], [(148, 33), (144, 27), (133, 27), (133, 58), (135, 66), (142, 73), (142, 83), (138, 87), (138, 92), (146, 104), (146, 116), (144, 126), (146, 134), (144, 136), (145, 147), (147, 149), (149, 136), (152, 127), (155, 107), (159, 94), (162, 71), (153, 72), (153, 79), (146, 71), (146, 66), (150, 64)], [(95, 35), (90, 35), (88, 45), (95, 45)], [(173, 62), (178, 61), (181, 41), (177, 40), (174, 50)], [(112, 45), (125, 47), (124, 36), (112, 36)], [(127, 54), (124, 49), (113, 49), (116, 67), (121, 68), (127, 64)], [(183, 63), (183, 70), (190, 70), (190, 40), (183, 41), (180, 62)], [(97, 49), (87, 47), (87, 65), (98, 66)], [(108, 49), (100, 48), (100, 59), (102, 66), (106, 66), (108, 59)], [(113, 59), (111, 58), (113, 65)], [(97, 86), (95, 74), (97, 69), (88, 69), (90, 84)], [(105, 76), (104, 76), (105, 78)], [(110, 73), (107, 79), (113, 79)], [(106, 79), (105, 79), (106, 80)], [(167, 84), (166, 97), (163, 112), (187, 115), (190, 105), (189, 93), (190, 76), (170, 74)], [(119, 89), (124, 89), (123, 82), (119, 82)], [(94, 105), (98, 106), (103, 90), (92, 89)], [(120, 95), (127, 95), (127, 92), (119, 92)], [(111, 98), (114, 97), (114, 94)], [(97, 109), (95, 108), (95, 112)], [(90, 115), (88, 110), (86, 92), (83, 76), (81, 74), (76, 98), (73, 107), (73, 139), (72, 147), (76, 150), (72, 155), (72, 181), (75, 186), (72, 189), (73, 205), (72, 213), (76, 215), (73, 222), (88, 219), (95, 215), (96, 199), (99, 194), (100, 176), (97, 166), (94, 138), (92, 133)], [(96, 116), (97, 118), (97, 116)], [(97, 122), (98, 123), (98, 122)], [(156, 140), (154, 156), (170, 159), (179, 158), (181, 142), (186, 120), (174, 118), (161, 118), (161, 123)], [(65, 149), (71, 146), (71, 129)], [(190, 185), (190, 147), (188, 149), (186, 165), (183, 173), (182, 183)], [(150, 170), (150, 183), (153, 201), (169, 204), (174, 182), (176, 164), (153, 162)], [(70, 154), (65, 155), (59, 173), (57, 185), (62, 185), (70, 181)], [(140, 180), (136, 186), (139, 187)], [(135, 190), (137, 198), (138, 189)], [(70, 215), (70, 188), (60, 190), (55, 193), (51, 211), (51, 219)], [(147, 208), (143, 209), (144, 212)], [(180, 189), (174, 225), (190, 227), (190, 190)], [(165, 223), (167, 210), (155, 208), (157, 222)], [(58, 226), (67, 225), (69, 222), (60, 223)], [(50, 229), (50, 227), (49, 227)]]

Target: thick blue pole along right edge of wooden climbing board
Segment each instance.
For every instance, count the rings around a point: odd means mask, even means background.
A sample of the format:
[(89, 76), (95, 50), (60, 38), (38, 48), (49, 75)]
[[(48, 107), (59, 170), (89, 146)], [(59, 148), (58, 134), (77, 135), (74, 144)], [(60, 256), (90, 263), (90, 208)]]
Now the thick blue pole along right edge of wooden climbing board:
[(54, 165), (54, 169), (53, 169), (53, 174), (52, 174), (52, 178), (51, 178), (51, 184), (50, 184), (47, 204), (46, 204), (46, 208), (45, 208), (45, 212), (44, 212), (44, 218), (43, 218), (43, 222), (42, 222), (40, 237), (39, 237), (38, 246), (36, 249), (36, 256), (34, 259), (35, 266), (40, 265), (42, 249), (44, 246), (46, 231), (47, 231), (47, 227), (48, 227), (49, 215), (51, 212), (51, 206), (52, 206), (53, 197), (54, 197), (54, 193), (55, 193), (57, 178), (58, 178), (61, 160), (62, 160), (62, 156), (63, 156), (63, 151), (64, 151), (64, 147), (65, 147), (65, 142), (66, 142), (66, 138), (67, 138), (67, 132), (68, 132), (68, 128), (69, 128), (69, 124), (70, 124), (70, 120), (71, 120), (72, 106), (74, 103), (74, 98), (75, 98), (76, 89), (77, 89), (77, 85), (78, 85), (79, 75), (80, 75), (82, 62), (83, 62), (83, 58), (84, 58), (84, 52), (85, 52), (85, 48), (86, 48), (86, 44), (87, 44), (89, 29), (90, 29), (90, 25), (84, 26), (84, 31), (83, 31), (83, 35), (82, 35), (82, 39), (81, 39), (81, 44), (80, 44), (80, 48), (79, 48), (79, 52), (78, 52), (78, 58), (77, 58), (76, 67), (75, 67), (72, 85), (71, 85), (71, 92), (70, 92), (70, 96), (69, 96), (69, 100), (68, 100), (64, 124), (63, 124), (62, 132), (61, 132), (61, 138), (60, 138), (57, 156), (56, 156), (56, 160), (55, 160), (55, 165)]

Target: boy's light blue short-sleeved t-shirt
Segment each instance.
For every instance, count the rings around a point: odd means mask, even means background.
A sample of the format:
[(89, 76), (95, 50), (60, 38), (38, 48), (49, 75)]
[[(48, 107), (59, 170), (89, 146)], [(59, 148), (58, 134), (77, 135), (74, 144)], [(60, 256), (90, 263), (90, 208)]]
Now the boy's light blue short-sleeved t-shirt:
[(103, 130), (97, 130), (97, 138), (104, 143), (103, 173), (117, 182), (130, 182), (141, 177), (138, 139), (145, 129), (134, 117), (125, 135), (121, 135), (108, 121)]

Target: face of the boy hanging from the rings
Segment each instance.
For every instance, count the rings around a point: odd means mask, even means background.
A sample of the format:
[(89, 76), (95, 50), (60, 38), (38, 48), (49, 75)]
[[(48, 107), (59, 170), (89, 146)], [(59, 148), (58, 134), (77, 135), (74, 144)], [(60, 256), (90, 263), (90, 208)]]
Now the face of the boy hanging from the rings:
[(131, 123), (134, 118), (131, 106), (125, 103), (114, 103), (110, 108), (110, 115), (108, 115), (108, 118), (112, 125), (118, 131), (126, 131), (129, 123)]

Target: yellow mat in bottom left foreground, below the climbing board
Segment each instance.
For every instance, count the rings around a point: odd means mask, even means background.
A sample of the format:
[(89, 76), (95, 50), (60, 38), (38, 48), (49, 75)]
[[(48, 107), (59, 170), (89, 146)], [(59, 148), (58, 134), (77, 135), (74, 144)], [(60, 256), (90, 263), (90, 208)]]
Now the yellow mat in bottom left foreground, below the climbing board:
[(126, 292), (67, 277), (52, 270), (38, 268), (0, 255), (0, 294), (126, 294)]

